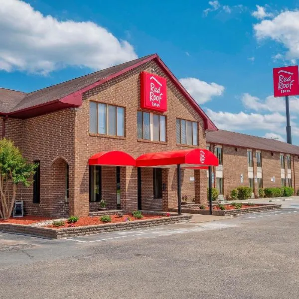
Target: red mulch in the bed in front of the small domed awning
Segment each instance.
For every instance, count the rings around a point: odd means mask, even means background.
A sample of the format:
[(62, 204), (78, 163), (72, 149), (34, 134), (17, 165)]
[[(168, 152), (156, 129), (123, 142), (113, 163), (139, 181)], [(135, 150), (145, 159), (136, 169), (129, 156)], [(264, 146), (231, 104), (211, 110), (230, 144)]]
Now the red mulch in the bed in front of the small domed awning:
[(117, 215), (110, 215), (112, 221), (111, 222), (102, 222), (100, 220), (101, 216), (96, 216), (96, 217), (80, 217), (77, 222), (73, 223), (67, 223), (65, 221), (64, 226), (59, 226), (56, 227), (54, 225), (47, 225), (46, 227), (51, 227), (51, 228), (64, 228), (64, 227), (75, 227), (75, 226), (88, 226), (88, 225), (96, 225), (96, 224), (108, 224), (108, 223), (117, 223), (117, 222), (125, 222), (126, 218), (130, 218), (131, 221), (136, 221), (136, 220), (146, 220), (146, 219), (155, 219), (155, 218), (161, 218), (165, 216), (151, 216), (151, 215), (144, 215), (143, 218), (137, 219), (131, 215), (124, 215), (124, 217), (118, 217)]

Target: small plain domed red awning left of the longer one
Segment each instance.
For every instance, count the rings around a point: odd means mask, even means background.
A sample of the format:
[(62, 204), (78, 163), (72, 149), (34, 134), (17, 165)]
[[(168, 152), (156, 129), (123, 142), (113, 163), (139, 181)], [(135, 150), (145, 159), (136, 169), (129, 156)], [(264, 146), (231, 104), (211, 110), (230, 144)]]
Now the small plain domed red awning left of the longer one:
[(135, 159), (119, 150), (101, 151), (88, 159), (89, 165), (135, 166)]

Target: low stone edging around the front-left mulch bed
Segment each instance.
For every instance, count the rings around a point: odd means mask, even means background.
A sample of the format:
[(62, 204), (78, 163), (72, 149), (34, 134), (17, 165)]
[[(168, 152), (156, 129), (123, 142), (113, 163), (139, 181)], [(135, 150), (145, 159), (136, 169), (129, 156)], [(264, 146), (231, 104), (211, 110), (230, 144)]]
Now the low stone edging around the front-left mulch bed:
[(147, 220), (135, 220), (128, 222), (99, 224), (89, 226), (67, 227), (67, 228), (49, 228), (49, 227), (33, 227), (28, 225), (1, 223), (0, 231), (8, 233), (25, 234), (35, 237), (61, 239), (66, 237), (76, 237), (84, 235), (92, 235), (103, 232), (122, 231), (129, 229), (138, 229), (143, 227), (151, 227), (156, 225), (189, 222), (191, 215), (176, 215), (170, 217), (147, 219)]

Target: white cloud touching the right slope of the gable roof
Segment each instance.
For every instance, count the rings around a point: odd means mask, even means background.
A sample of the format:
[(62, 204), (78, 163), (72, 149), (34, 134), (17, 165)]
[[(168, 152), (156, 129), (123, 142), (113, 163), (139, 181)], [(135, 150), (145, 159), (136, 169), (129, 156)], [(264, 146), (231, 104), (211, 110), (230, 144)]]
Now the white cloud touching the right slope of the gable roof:
[(225, 89), (222, 85), (214, 82), (207, 83), (196, 78), (182, 78), (179, 79), (179, 82), (194, 98), (197, 104), (208, 102), (213, 96), (221, 96)]

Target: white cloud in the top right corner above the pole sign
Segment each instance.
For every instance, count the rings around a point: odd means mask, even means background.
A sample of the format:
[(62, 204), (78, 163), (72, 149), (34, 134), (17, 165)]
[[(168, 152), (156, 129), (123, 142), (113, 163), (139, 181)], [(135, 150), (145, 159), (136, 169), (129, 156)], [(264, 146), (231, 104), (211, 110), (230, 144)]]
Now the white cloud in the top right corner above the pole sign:
[(299, 11), (287, 10), (271, 20), (262, 20), (254, 25), (254, 30), (259, 40), (271, 38), (283, 44), (288, 49), (287, 59), (299, 58)]

